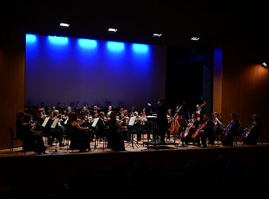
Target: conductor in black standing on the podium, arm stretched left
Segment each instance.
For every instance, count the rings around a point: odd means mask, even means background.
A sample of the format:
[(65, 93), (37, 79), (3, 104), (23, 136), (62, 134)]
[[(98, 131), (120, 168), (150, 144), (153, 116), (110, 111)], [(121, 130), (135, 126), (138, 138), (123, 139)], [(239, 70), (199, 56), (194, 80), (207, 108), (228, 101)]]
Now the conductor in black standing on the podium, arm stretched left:
[(157, 111), (157, 120), (156, 125), (158, 127), (158, 132), (160, 135), (160, 142), (159, 143), (165, 143), (165, 128), (167, 127), (167, 106), (164, 103), (164, 98), (160, 98), (157, 102), (157, 106), (153, 107), (150, 103), (147, 103), (147, 105), (152, 109)]

